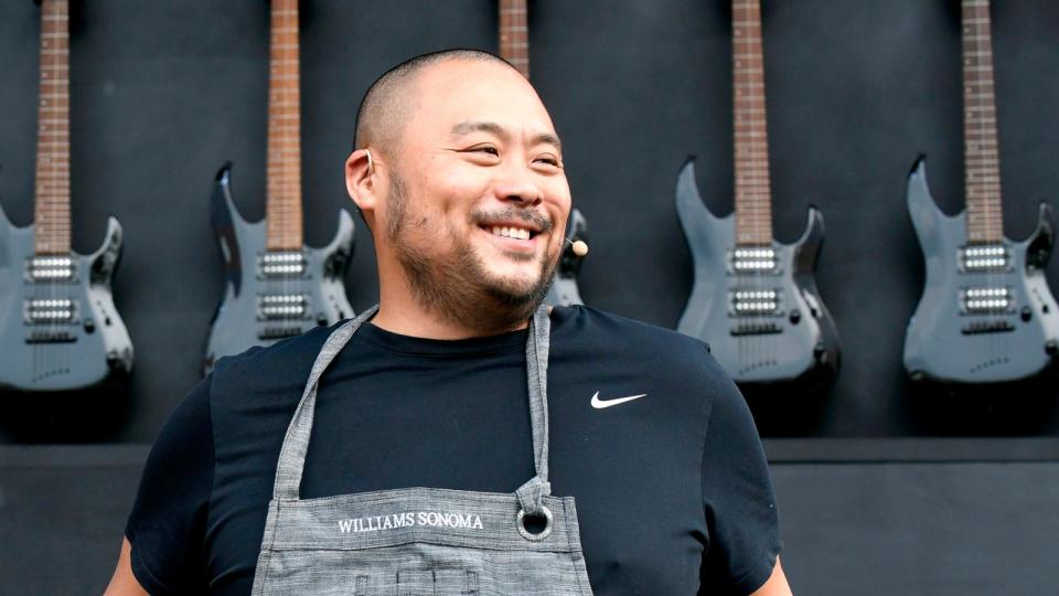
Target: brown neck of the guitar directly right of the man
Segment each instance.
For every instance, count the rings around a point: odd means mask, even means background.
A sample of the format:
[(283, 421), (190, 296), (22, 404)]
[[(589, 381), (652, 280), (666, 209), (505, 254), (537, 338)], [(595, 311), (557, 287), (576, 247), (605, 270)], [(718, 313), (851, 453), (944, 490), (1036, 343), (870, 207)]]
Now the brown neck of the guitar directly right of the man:
[(772, 199), (761, 6), (758, 0), (732, 0), (731, 35), (736, 242), (740, 245), (769, 245), (772, 244)]

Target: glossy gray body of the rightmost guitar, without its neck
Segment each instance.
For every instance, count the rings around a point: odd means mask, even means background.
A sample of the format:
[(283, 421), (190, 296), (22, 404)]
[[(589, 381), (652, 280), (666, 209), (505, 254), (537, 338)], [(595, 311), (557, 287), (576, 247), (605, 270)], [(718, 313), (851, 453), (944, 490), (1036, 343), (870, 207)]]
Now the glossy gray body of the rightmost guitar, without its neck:
[[(969, 255), (976, 246), (967, 244), (966, 214), (949, 216), (938, 209), (921, 158), (908, 179), (908, 211), (927, 264), (923, 295), (905, 336), (909, 375), (960, 385), (1028, 380), (1055, 370), (1059, 307), (1044, 275), (1055, 243), (1048, 204), (1040, 203), (1037, 230), (1027, 240), (1004, 238), (1002, 245), (977, 247), (995, 253)], [(1006, 265), (974, 270), (967, 258), (1002, 258)]]

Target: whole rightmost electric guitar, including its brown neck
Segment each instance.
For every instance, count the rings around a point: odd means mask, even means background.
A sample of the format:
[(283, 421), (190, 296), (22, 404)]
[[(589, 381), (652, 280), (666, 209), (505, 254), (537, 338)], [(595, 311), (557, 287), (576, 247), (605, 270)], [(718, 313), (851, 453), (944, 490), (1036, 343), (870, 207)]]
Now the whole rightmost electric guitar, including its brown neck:
[(964, 0), (962, 20), (966, 211), (938, 209), (921, 157), (908, 211), (927, 281), (905, 336), (905, 369), (914, 381), (953, 385), (1026, 380), (1059, 364), (1059, 308), (1044, 275), (1053, 215), (1041, 202), (1027, 240), (1004, 237), (988, 0)]

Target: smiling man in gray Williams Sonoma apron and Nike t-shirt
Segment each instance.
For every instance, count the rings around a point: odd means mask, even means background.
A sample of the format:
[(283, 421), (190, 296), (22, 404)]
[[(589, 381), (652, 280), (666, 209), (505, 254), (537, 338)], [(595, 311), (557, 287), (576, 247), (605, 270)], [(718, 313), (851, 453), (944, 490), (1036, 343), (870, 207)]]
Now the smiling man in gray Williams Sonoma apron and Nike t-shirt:
[(217, 364), (152, 449), (108, 594), (789, 595), (707, 348), (538, 308), (570, 193), (530, 83), (413, 58), (356, 147), (378, 311)]

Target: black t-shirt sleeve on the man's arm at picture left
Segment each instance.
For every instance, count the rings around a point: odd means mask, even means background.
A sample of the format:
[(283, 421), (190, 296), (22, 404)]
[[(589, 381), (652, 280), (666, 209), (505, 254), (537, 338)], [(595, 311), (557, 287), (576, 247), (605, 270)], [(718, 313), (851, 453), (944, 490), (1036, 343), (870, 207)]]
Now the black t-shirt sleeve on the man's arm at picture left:
[(213, 486), (210, 379), (162, 426), (126, 524), (132, 574), (154, 596), (205, 592), (203, 539)]

